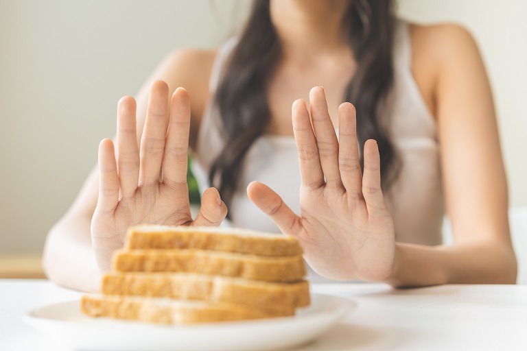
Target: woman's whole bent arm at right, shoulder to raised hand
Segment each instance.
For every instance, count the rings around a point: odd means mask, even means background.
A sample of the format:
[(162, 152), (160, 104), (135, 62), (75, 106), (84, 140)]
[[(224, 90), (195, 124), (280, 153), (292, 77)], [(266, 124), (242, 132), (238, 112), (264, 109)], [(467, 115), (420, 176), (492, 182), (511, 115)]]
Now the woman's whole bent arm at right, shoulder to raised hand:
[(300, 216), (264, 184), (251, 183), (248, 196), (282, 232), (301, 241), (307, 261), (329, 278), (384, 281), (395, 287), (513, 284), (516, 261), (506, 180), (482, 60), (460, 27), (428, 30), (419, 38), (428, 47), (420, 49), (431, 56), (428, 72), (436, 73), (434, 102), (454, 245), (395, 243), (393, 218), (380, 186), (377, 145), (366, 141), (362, 173), (355, 110), (351, 104), (340, 106), (337, 141), (321, 88), (309, 95), (310, 113), (303, 101), (292, 107), (302, 180)]

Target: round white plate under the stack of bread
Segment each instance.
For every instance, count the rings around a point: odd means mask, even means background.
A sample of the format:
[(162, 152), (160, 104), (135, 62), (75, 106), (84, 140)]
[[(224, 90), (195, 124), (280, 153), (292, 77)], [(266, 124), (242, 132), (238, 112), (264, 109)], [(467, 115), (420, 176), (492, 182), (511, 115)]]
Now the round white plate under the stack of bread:
[(80, 301), (36, 308), (25, 322), (71, 348), (91, 351), (273, 350), (312, 341), (337, 324), (355, 302), (312, 293), (312, 304), (294, 317), (222, 322), (194, 326), (161, 326), (91, 318)]

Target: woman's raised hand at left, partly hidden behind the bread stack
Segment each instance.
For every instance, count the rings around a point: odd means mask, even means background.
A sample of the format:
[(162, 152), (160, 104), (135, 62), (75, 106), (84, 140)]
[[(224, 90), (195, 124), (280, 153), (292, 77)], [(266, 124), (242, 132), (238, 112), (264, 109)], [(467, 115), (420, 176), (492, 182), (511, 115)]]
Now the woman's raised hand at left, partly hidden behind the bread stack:
[(187, 90), (178, 88), (169, 108), (168, 94), (165, 82), (150, 87), (140, 147), (132, 97), (123, 97), (117, 106), (117, 152), (110, 139), (99, 145), (99, 197), (91, 239), (102, 271), (110, 269), (111, 255), (123, 246), (129, 226), (218, 226), (227, 214), (220, 194), (210, 188), (192, 220), (187, 186), (190, 100)]

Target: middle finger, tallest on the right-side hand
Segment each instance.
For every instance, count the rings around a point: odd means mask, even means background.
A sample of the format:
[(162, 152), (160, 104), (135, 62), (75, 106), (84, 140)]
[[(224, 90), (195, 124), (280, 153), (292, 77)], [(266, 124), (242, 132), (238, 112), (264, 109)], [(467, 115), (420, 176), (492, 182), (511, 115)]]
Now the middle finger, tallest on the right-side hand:
[(316, 86), (309, 92), (309, 106), (326, 184), (329, 188), (343, 189), (338, 169), (338, 140), (327, 112), (326, 95), (321, 86)]

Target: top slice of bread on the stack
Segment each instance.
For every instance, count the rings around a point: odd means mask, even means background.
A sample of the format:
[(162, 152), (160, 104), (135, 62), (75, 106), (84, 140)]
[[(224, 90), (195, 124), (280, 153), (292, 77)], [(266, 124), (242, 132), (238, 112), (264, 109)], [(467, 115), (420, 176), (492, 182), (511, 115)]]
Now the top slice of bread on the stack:
[(302, 254), (298, 241), (282, 234), (191, 226), (134, 226), (128, 229), (125, 247), (128, 250), (200, 249), (261, 256)]

